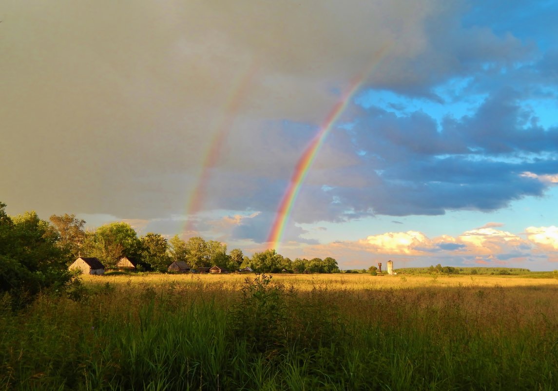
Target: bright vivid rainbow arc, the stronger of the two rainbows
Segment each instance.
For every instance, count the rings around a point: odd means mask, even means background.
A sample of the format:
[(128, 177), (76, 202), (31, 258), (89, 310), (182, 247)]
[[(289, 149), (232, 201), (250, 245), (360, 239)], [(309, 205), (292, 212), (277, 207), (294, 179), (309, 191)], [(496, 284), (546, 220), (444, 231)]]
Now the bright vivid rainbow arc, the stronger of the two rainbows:
[(343, 114), (343, 112), (349, 105), (350, 100), (353, 98), (354, 94), (357, 93), (358, 89), (362, 86), (365, 79), (372, 73), (374, 68), (376, 68), (380, 60), (384, 58), (387, 49), (387, 45), (383, 46), (382, 49), (380, 49), (374, 56), (374, 60), (372, 61), (372, 64), (368, 66), (367, 70), (349, 84), (347, 90), (345, 90), (345, 92), (341, 95), (339, 101), (329, 111), (323, 125), (320, 127), (320, 130), (318, 131), (318, 133), (316, 133), (312, 141), (310, 141), (310, 144), (306, 147), (304, 153), (300, 157), (299, 161), (296, 163), (291, 180), (285, 193), (283, 194), (283, 197), (281, 198), (281, 203), (279, 204), (279, 207), (277, 209), (276, 217), (273, 221), (273, 225), (271, 226), (270, 234), (267, 237), (269, 249), (277, 250), (283, 237), (283, 233), (285, 231), (288, 218), (291, 214), (292, 207), (294, 206), (296, 198), (299, 195), (302, 183), (304, 182), (304, 179), (306, 178), (306, 175), (308, 174), (308, 171), (310, 170), (310, 167), (314, 162), (316, 155), (318, 155), (320, 147), (324, 144), (326, 136), (330, 132), (335, 121), (337, 121), (341, 114)]

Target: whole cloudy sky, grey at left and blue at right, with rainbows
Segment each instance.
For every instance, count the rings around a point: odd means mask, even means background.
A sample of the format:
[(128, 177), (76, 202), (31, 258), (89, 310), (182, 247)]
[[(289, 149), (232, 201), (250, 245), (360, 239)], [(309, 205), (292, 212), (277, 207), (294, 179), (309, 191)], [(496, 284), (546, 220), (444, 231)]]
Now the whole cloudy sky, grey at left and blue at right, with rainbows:
[(6, 0), (0, 201), (341, 269), (558, 269), (556, 15)]

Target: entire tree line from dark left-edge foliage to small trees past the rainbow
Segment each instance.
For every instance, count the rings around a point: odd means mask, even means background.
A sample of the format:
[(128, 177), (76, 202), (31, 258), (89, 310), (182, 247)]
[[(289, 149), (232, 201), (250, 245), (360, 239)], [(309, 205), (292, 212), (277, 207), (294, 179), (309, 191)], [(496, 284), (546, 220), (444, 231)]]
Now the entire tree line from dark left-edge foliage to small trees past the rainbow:
[(167, 240), (160, 233), (138, 237), (125, 222), (85, 230), (85, 220), (74, 214), (41, 220), (36, 212), (11, 217), (0, 202), (0, 293), (23, 292), (32, 296), (41, 289), (64, 289), (73, 281), (68, 266), (78, 256), (98, 258), (105, 268), (114, 268), (123, 257), (137, 262), (140, 269), (166, 271), (173, 261), (185, 261), (193, 268), (220, 266), (238, 270), (249, 266), (259, 273), (338, 273), (333, 258), (297, 258), (294, 261), (275, 250), (255, 252), (252, 257), (240, 249), (227, 253), (227, 245), (195, 236)]

